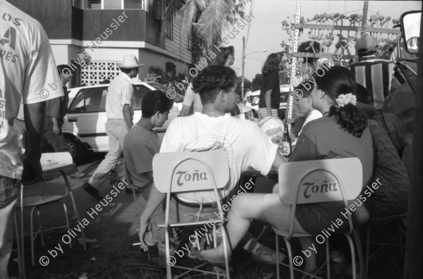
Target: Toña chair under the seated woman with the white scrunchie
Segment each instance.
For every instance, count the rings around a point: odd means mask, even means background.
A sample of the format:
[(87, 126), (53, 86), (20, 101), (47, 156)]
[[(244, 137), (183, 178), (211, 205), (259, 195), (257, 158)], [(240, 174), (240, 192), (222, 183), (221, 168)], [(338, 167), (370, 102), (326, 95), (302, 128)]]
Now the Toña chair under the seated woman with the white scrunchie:
[[(336, 202), (343, 201), (345, 208), (348, 209), (348, 200), (357, 198), (362, 191), (362, 164), (357, 158), (345, 159), (327, 159), (316, 161), (300, 161), (284, 163), (278, 170), (279, 175), (279, 197), (285, 204), (292, 204), (292, 214), (290, 216), (290, 228), (288, 231), (275, 230), (276, 233), (276, 259), (279, 262), (279, 242), (278, 235), (283, 237), (288, 249), (289, 265), (281, 263), (290, 268), (290, 278), (294, 279), (294, 269), (301, 273), (306, 273), (298, 268), (293, 267), (293, 254), (290, 247), (290, 239), (292, 237), (309, 237), (315, 236), (312, 234), (294, 233), (294, 220), (297, 204), (311, 204), (316, 202)], [(326, 187), (322, 182), (326, 181)], [(309, 191), (305, 195), (305, 188), (302, 187), (306, 182), (313, 182), (318, 185), (319, 189), (316, 192)], [(332, 191), (330, 183), (336, 183), (339, 190)], [(310, 190), (310, 189), (308, 189)], [(311, 194), (310, 194), (311, 193)], [(306, 197), (307, 196), (307, 197)], [(348, 233), (343, 233), (350, 244), (351, 259), (353, 266), (353, 278), (356, 278), (355, 266), (355, 248), (350, 235), (354, 235), (357, 244), (357, 253), (360, 260), (360, 278), (364, 278), (364, 259), (362, 256), (362, 249), (360, 244), (360, 236), (358, 230), (353, 228), (353, 220), (350, 214), (348, 216)], [(335, 220), (333, 220), (335, 222)], [(330, 259), (329, 259), (329, 239), (326, 242), (326, 268), (327, 278), (330, 278)], [(302, 255), (303, 256), (303, 255)], [(323, 266), (321, 266), (322, 268)], [(321, 269), (319, 268), (319, 270)], [(318, 271), (319, 271), (318, 270)], [(276, 274), (279, 279), (279, 265), (276, 265)], [(306, 273), (308, 275), (312, 275)], [(314, 275), (313, 278), (319, 278)]]

